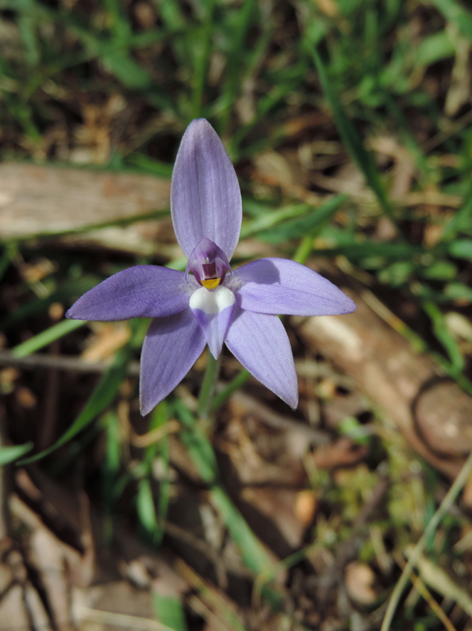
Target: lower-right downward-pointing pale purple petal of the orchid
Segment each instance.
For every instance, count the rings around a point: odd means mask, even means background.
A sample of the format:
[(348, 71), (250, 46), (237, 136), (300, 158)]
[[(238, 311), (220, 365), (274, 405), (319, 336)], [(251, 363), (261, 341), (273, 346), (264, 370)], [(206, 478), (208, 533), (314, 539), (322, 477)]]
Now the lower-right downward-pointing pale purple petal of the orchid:
[(277, 315), (235, 308), (225, 340), (235, 358), (282, 401), (299, 403), (294, 356), (289, 336)]

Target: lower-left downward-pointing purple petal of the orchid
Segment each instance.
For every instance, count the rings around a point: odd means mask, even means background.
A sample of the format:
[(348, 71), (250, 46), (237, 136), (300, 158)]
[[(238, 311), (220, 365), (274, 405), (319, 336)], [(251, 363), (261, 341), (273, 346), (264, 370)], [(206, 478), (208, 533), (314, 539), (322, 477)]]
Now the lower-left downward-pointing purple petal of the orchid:
[(149, 325), (141, 351), (139, 407), (148, 414), (178, 385), (205, 348), (190, 309)]

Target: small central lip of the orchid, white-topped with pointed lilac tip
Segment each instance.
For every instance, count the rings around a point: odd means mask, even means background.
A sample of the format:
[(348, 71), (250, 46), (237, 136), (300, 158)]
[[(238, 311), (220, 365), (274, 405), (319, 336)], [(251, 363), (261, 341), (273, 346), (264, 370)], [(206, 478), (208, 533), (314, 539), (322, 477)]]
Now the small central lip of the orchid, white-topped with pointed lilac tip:
[(218, 360), (235, 308), (235, 294), (227, 287), (218, 287), (215, 291), (200, 287), (193, 292), (189, 304), (210, 353)]

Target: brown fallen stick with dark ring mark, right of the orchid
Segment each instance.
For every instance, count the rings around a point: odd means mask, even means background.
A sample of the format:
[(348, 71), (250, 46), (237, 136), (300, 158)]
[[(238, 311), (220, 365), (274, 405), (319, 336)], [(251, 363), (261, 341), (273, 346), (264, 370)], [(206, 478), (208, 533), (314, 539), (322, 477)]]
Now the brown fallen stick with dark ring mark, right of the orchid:
[(472, 449), (472, 399), (368, 306), (349, 279), (327, 261), (313, 268), (329, 276), (358, 305), (350, 315), (292, 318), (313, 350), (331, 358), (395, 424), (413, 449), (455, 477)]

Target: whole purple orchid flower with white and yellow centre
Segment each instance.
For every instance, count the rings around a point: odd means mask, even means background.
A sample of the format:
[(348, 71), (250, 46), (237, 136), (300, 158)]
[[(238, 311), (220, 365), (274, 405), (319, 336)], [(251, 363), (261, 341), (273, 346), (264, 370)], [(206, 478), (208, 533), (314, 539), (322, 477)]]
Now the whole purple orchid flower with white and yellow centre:
[(185, 273), (154, 265), (119, 271), (67, 312), (78, 320), (152, 318), (141, 353), (141, 414), (178, 385), (208, 344), (225, 343), (249, 372), (292, 408), (298, 382), (277, 314), (335, 315), (355, 303), (318, 273), (287, 259), (259, 259), (232, 270), (240, 236), (236, 172), (210, 123), (193, 120), (173, 168), (171, 214)]

